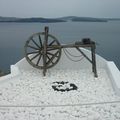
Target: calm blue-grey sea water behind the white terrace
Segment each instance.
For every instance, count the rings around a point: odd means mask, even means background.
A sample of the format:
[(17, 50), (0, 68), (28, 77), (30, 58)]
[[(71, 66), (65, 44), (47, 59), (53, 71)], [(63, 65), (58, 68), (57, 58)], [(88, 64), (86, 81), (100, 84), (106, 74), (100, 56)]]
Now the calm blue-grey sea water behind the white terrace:
[(97, 42), (96, 52), (114, 61), (120, 69), (120, 22), (65, 23), (0, 23), (0, 69), (9, 71), (10, 65), (24, 57), (24, 44), (31, 34), (49, 26), (50, 34), (61, 43), (74, 43), (82, 38)]

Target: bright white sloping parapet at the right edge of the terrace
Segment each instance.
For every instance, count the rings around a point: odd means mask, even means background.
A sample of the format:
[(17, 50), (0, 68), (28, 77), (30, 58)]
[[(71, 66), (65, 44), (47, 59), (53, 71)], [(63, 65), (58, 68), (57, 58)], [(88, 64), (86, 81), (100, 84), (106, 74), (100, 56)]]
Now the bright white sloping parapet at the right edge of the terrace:
[(107, 68), (113, 89), (115, 93), (120, 96), (120, 71), (112, 61), (107, 62)]

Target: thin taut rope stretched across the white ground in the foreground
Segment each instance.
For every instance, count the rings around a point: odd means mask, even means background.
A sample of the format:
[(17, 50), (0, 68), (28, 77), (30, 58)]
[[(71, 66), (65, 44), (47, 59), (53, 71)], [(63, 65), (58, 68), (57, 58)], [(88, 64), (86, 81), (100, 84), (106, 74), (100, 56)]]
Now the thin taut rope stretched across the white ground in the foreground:
[(99, 103), (83, 103), (83, 104), (67, 104), (67, 105), (37, 105), (37, 106), (33, 106), (33, 105), (24, 105), (24, 106), (20, 106), (20, 105), (0, 105), (1, 107), (9, 107), (9, 108), (14, 108), (14, 107), (28, 107), (28, 108), (43, 108), (43, 107), (75, 107), (75, 106), (92, 106), (92, 105), (105, 105), (105, 104), (116, 104), (116, 103), (120, 103), (120, 101), (110, 101), (110, 102), (99, 102)]

